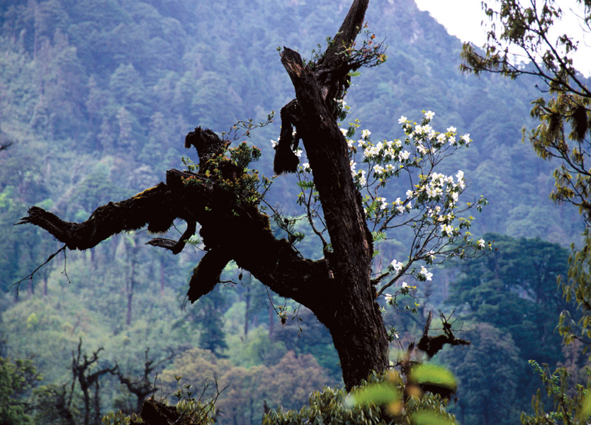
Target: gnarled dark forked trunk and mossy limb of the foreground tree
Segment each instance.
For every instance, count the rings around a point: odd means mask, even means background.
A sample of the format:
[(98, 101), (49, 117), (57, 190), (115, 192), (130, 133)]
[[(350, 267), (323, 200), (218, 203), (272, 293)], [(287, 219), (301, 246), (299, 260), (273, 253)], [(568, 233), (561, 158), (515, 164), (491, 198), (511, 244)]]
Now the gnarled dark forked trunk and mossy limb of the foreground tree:
[(151, 232), (164, 232), (179, 218), (188, 223), (179, 241), (157, 238), (150, 242), (176, 254), (199, 222), (207, 252), (193, 271), (188, 290), (191, 302), (213, 290), (221, 271), (233, 260), (278, 295), (308, 307), (325, 324), (348, 389), (372, 370), (385, 369), (388, 340), (370, 281), (371, 232), (351, 177), (347, 143), (335, 119), (337, 100), (349, 86), (348, 74), (361, 67), (346, 53), (364, 25), (367, 6), (368, 0), (354, 1), (334, 41), (316, 63), (304, 66), (300, 55), (288, 48), (281, 53), (295, 99), (281, 110), (274, 166), (278, 174), (295, 171), (298, 160), (291, 147), (303, 142), (332, 244), (324, 259), (302, 258), (286, 239), (274, 237), (269, 217), (256, 205), (236, 201), (215, 176), (240, 181), (244, 171), (229, 162), (212, 169), (212, 159), (225, 152), (230, 142), (201, 128), (189, 133), (185, 142), (197, 150), (198, 173), (169, 170), (165, 183), (103, 205), (82, 223), (64, 222), (37, 207), (30, 208), (21, 223), (43, 227), (69, 249), (89, 249), (112, 234), (145, 225)]

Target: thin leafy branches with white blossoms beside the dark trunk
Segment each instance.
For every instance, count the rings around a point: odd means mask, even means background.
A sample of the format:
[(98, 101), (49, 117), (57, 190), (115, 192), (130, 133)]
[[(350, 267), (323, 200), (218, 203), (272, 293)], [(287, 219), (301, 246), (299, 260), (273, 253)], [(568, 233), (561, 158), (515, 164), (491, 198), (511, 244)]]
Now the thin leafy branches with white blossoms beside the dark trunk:
[[(436, 266), (455, 256), (475, 255), (490, 247), (483, 239), (475, 242), (469, 232), (473, 217), (468, 212), (473, 208), (480, 211), (487, 203), (485, 198), (460, 208), (459, 199), (466, 191), (463, 171), (458, 170), (451, 176), (437, 171), (444, 159), (458, 149), (469, 147), (470, 135), (458, 135), (453, 126), (444, 132), (435, 130), (432, 127), (434, 116), (432, 111), (423, 111), (420, 123), (400, 117), (398, 123), (405, 133), (404, 140), (374, 143), (370, 130), (361, 130), (361, 137), (355, 140), (360, 127), (357, 120), (350, 123), (349, 128), (341, 128), (349, 148), (351, 175), (363, 196), (374, 243), (378, 239), (389, 239), (389, 233), (395, 229), (412, 231), (405, 261), (393, 260), (385, 271), (378, 271), (372, 279), (378, 296), (385, 295), (385, 290), (403, 276), (413, 276), (418, 281), (432, 280), (433, 273), (428, 266)], [(298, 203), (305, 204), (313, 225), (320, 218), (313, 213), (317, 211), (314, 205), (317, 197), (313, 195), (315, 188), (310, 171), (308, 164), (299, 168), (302, 193)], [(398, 188), (407, 185), (404, 196), (394, 198), (391, 189), (388, 190), (388, 183), (393, 179)], [(305, 191), (310, 191), (307, 197)], [(324, 244), (325, 240), (322, 242)]]

